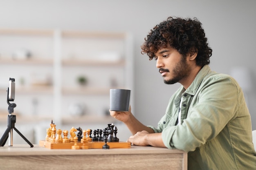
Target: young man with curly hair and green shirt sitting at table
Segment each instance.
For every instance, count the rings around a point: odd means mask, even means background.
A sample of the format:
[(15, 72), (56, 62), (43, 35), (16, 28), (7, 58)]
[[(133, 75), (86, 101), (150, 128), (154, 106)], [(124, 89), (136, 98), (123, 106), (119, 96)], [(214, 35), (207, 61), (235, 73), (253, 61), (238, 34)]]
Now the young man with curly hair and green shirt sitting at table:
[(157, 128), (141, 124), (131, 111), (110, 115), (128, 126), (134, 145), (188, 152), (189, 170), (255, 170), (243, 91), (229, 75), (211, 71), (212, 49), (201, 25), (196, 18), (169, 17), (150, 30), (141, 46), (149, 60), (156, 60), (166, 84), (182, 84)]

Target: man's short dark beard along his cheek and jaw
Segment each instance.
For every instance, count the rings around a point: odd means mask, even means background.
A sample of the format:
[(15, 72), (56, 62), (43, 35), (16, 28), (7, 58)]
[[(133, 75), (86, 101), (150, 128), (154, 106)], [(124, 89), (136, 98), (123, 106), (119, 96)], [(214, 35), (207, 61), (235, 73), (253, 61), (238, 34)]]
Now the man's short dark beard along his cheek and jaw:
[[(166, 70), (167, 71), (167, 70)], [(191, 71), (189, 64), (186, 62), (186, 57), (182, 56), (180, 62), (173, 69), (173, 78), (164, 79), (165, 84), (175, 84), (180, 82), (180, 80), (186, 78)], [(169, 72), (169, 71), (168, 71)]]

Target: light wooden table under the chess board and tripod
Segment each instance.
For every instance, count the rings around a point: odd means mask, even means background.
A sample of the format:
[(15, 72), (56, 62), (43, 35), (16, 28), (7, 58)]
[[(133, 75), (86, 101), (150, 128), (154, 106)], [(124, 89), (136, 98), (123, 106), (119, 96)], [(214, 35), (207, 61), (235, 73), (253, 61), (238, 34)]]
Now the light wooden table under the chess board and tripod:
[(13, 145), (0, 147), (0, 170), (7, 169), (187, 170), (187, 153), (150, 146), (71, 150)]

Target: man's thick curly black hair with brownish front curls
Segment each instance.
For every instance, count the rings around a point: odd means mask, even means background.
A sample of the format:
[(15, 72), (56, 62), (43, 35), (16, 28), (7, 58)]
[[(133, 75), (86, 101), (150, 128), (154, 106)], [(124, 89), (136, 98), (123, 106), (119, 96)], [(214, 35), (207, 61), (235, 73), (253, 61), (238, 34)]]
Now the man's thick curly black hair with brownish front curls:
[(197, 18), (168, 17), (150, 30), (141, 46), (141, 53), (146, 53), (152, 60), (154, 53), (168, 44), (183, 56), (197, 52), (196, 64), (199, 66), (210, 63), (212, 49), (208, 46), (202, 23)]

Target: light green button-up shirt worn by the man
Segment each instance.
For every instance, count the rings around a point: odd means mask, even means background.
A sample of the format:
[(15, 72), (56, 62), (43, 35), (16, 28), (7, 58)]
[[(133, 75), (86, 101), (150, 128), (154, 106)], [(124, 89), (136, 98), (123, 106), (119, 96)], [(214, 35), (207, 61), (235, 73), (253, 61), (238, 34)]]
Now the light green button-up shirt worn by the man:
[[(181, 123), (176, 125), (181, 104)], [(243, 91), (229, 75), (205, 65), (171, 97), (153, 128), (167, 148), (188, 152), (189, 170), (256, 170), (252, 123)]]

